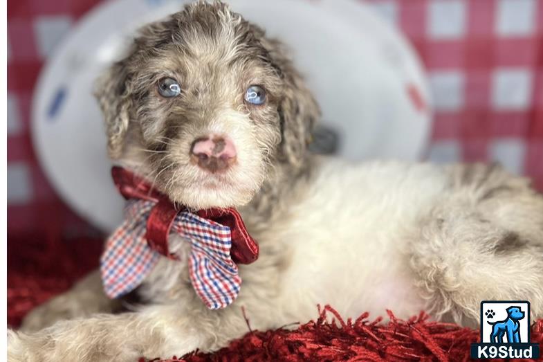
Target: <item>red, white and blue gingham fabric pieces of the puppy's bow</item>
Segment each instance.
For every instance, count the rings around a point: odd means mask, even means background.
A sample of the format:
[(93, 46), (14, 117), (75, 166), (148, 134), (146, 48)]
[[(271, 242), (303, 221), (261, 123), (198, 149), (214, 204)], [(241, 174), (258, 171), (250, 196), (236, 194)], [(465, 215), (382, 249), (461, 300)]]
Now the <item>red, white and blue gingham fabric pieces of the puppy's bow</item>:
[[(110, 298), (134, 290), (160, 258), (165, 257), (149, 247), (145, 239), (147, 219), (154, 205), (153, 201), (128, 201), (125, 221), (107, 240), (100, 271), (104, 291)], [(190, 280), (196, 294), (210, 309), (230, 305), (241, 286), (237, 265), (230, 257), (230, 228), (183, 211), (176, 216), (172, 232), (190, 243), (190, 255), (175, 255), (172, 260), (187, 262), (188, 256)], [(179, 249), (183, 248), (172, 245), (172, 250)]]

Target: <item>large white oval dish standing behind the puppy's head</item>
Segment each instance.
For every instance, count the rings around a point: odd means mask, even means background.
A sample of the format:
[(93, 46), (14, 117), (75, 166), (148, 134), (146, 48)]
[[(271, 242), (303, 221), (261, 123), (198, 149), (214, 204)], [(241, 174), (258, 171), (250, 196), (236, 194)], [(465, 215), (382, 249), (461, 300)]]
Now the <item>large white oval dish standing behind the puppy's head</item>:
[[(188, 1), (108, 1), (91, 11), (50, 58), (33, 100), (33, 140), (50, 181), (82, 217), (104, 231), (121, 219), (122, 199), (109, 177), (102, 117), (91, 89), (120, 57), (136, 28)], [(355, 0), (232, 0), (232, 8), (293, 50), (323, 111), (340, 134), (339, 154), (418, 159), (430, 110), (421, 66), (405, 39)]]

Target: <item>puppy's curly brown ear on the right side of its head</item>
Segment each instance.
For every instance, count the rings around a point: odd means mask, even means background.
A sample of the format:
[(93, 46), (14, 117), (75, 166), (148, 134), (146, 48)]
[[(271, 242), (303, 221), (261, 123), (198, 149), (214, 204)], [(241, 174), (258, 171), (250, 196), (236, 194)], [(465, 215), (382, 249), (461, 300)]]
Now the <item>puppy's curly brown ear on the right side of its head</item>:
[(266, 47), (270, 49), (274, 66), (284, 80), (284, 92), (277, 109), (282, 136), (277, 158), (280, 162), (300, 168), (306, 161), (313, 127), (320, 118), (320, 108), (302, 76), (286, 56), (282, 44), (268, 41)]

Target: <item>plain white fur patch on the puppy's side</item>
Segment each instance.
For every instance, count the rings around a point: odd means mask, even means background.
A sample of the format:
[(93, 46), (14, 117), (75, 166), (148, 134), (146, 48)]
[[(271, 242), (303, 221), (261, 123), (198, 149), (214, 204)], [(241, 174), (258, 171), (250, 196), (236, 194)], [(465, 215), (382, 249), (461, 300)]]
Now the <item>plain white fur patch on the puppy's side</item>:
[(286, 318), (313, 318), (317, 303), (353, 317), (418, 313), (404, 236), (416, 233), (418, 215), (445, 185), (432, 165), (323, 159), (307, 196), (275, 230), (292, 253), (280, 282)]

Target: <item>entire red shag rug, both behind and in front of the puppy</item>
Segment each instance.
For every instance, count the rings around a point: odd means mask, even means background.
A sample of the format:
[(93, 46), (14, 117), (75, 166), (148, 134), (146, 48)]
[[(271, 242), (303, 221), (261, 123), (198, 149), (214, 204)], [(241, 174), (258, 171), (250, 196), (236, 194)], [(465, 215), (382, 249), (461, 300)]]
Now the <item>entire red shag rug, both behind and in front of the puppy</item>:
[[(35, 305), (66, 290), (97, 266), (100, 240), (77, 240), (44, 247), (28, 240), (8, 241), (8, 324), (19, 325)], [(203, 361), (469, 361), (470, 343), (479, 341), (475, 329), (436, 323), (421, 313), (409, 320), (394, 317), (369, 320), (362, 314), (344, 320), (332, 307), (315, 310), (317, 320), (297, 329), (248, 334), (213, 354), (192, 352), (163, 362)], [(328, 322), (327, 320), (332, 320)], [(532, 325), (532, 342), (543, 350), (543, 320)], [(140, 362), (160, 359), (140, 359)], [(503, 361), (503, 360), (493, 360)], [(526, 361), (526, 360), (523, 360)], [(135, 361), (136, 362), (136, 361)]]

